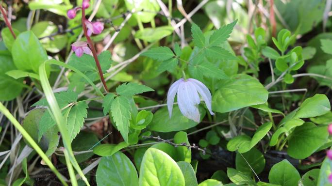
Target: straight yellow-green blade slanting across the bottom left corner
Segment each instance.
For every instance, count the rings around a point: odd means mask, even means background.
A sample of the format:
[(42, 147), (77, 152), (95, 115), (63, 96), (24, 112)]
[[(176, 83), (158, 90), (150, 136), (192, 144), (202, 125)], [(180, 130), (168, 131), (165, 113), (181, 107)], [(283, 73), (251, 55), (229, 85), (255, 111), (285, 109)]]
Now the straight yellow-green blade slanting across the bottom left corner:
[(54, 174), (59, 178), (60, 182), (64, 186), (68, 186), (65, 182), (63, 175), (60, 174), (58, 170), (54, 167), (50, 159), (47, 157), (47, 155), (41, 150), (41, 148), (38, 146), (38, 144), (33, 140), (33, 138), (29, 135), (29, 133), (22, 127), (21, 124), (17, 122), (15, 117), (9, 112), (7, 108), (5, 108), (2, 103), (0, 102), (0, 112), (2, 112), (8, 120), (17, 128), (17, 130), (22, 134), (22, 136), (29, 142), (29, 144), (33, 147), (33, 149), (40, 155), (40, 157), (44, 160), (44, 162), (50, 167), (50, 170), (54, 172)]

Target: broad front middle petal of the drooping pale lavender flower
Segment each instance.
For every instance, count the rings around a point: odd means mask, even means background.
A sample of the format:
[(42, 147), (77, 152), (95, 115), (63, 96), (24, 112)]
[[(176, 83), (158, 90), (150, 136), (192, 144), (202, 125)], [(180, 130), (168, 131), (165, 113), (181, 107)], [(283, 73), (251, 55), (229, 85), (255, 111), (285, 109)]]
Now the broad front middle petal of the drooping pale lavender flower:
[(197, 108), (196, 100), (193, 99), (193, 92), (196, 92), (196, 89), (191, 87), (191, 84), (183, 81), (179, 85), (178, 89), (178, 105), (181, 113), (195, 122), (199, 123), (199, 109)]

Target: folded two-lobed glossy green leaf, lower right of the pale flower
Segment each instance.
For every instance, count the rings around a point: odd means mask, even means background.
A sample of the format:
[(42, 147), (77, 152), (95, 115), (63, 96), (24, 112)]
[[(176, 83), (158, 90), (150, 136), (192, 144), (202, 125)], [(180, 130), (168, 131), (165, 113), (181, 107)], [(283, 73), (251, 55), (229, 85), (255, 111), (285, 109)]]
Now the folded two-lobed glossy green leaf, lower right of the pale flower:
[(229, 151), (238, 150), (239, 153), (246, 153), (266, 136), (271, 127), (271, 122), (262, 124), (257, 128), (252, 139), (247, 135), (237, 136), (227, 143), (227, 149)]

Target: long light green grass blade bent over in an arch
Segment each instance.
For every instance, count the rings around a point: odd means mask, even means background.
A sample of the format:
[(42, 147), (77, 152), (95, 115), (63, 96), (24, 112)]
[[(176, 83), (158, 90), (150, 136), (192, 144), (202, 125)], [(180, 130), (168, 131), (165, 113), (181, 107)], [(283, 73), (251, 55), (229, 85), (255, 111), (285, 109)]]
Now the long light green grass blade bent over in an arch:
[[(55, 122), (56, 124), (58, 125), (58, 128), (59, 128), (59, 131), (61, 133), (61, 136), (62, 136), (62, 141), (64, 143), (64, 146), (66, 148), (66, 151), (67, 153), (65, 153), (65, 158), (69, 158), (71, 164), (67, 164), (67, 167), (68, 167), (68, 171), (73, 171), (70, 166), (74, 166), (75, 170), (79, 173), (79, 175), (82, 177), (82, 180), (85, 182), (85, 184), (87, 186), (90, 186), (89, 182), (87, 181), (83, 171), (81, 170), (79, 164), (77, 163), (76, 159), (75, 159), (75, 156), (74, 156), (74, 153), (71, 149), (71, 142), (70, 142), (70, 138), (69, 138), (69, 134), (68, 134), (68, 131), (67, 131), (67, 128), (66, 128), (66, 123), (65, 123), (65, 120), (62, 116), (62, 113), (61, 113), (61, 109), (58, 105), (58, 102), (56, 101), (55, 99), (55, 96), (54, 96), (54, 93), (52, 91), (52, 88), (50, 86), (50, 82), (49, 82), (49, 79), (47, 78), (47, 74), (46, 74), (46, 67), (45, 65), (46, 64), (65, 64), (65, 63), (61, 63), (61, 62), (57, 62), (56, 60), (47, 60), (45, 62), (43, 62), (40, 66), (39, 66), (39, 78), (40, 78), (40, 83), (41, 83), (41, 86), (43, 88), (43, 91), (45, 93), (45, 97), (46, 97), (46, 100), (47, 102), (49, 103), (50, 105), (50, 110), (52, 111), (53, 113), (53, 116), (54, 116), (54, 119), (55, 119)], [(67, 65), (67, 64), (66, 64)], [(68, 65), (69, 66), (69, 65)], [(65, 66), (66, 67), (66, 66)], [(77, 69), (76, 69), (77, 70)], [(77, 70), (77, 73), (80, 72)], [(85, 75), (83, 75), (85, 76)], [(86, 76), (85, 76), (86, 77)], [(87, 77), (86, 77), (87, 78)], [(88, 78), (87, 78), (88, 80)], [(89, 80), (90, 81), (90, 80)], [(90, 81), (91, 82), (91, 81)], [(91, 82), (92, 83), (92, 82)], [(93, 83), (92, 83), (93, 84)], [(96, 87), (96, 85), (94, 85), (94, 87)], [(100, 91), (99, 91), (100, 92)], [(100, 92), (101, 93), (101, 92)], [(102, 93), (101, 93), (102, 94)], [(68, 157), (68, 156), (69, 157)], [(67, 162), (67, 160), (66, 160)], [(70, 174), (74, 174), (74, 172), (70, 172)], [(74, 185), (75, 183), (77, 184), (77, 181), (76, 179), (72, 179), (71, 177), (71, 182), (72, 182), (72, 185)]]

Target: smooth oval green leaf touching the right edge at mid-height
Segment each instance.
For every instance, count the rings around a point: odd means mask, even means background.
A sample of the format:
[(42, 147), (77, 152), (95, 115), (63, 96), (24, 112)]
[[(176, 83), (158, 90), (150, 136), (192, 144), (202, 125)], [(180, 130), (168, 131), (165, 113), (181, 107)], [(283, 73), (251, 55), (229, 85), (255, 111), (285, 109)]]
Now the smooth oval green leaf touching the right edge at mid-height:
[(328, 113), (331, 110), (329, 98), (324, 94), (315, 94), (313, 97), (307, 98), (299, 107), (295, 117), (311, 118)]

